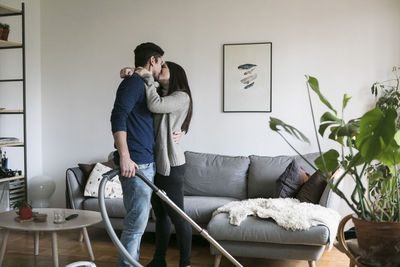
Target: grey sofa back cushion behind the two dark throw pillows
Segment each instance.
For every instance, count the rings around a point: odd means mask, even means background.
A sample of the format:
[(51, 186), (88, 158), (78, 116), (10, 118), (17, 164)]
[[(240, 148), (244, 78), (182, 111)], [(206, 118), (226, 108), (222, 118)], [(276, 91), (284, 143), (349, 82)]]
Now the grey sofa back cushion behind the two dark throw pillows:
[[(311, 163), (314, 163), (314, 160), (318, 156), (319, 153), (304, 155)], [(250, 156), (248, 198), (274, 197), (276, 192), (276, 180), (294, 159), (296, 159), (297, 163), (304, 171), (314, 173), (315, 170), (300, 156)]]

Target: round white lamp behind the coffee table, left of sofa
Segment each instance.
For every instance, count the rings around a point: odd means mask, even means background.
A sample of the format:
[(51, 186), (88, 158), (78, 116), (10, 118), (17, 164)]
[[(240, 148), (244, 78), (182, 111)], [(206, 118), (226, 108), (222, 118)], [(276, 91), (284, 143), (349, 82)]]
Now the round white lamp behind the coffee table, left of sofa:
[(35, 176), (29, 180), (29, 199), (33, 208), (47, 208), (56, 183), (48, 176)]

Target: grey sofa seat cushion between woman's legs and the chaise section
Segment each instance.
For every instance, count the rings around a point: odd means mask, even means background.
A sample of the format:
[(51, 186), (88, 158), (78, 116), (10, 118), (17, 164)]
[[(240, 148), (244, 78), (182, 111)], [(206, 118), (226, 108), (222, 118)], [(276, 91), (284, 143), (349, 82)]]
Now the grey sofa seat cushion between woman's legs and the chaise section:
[(198, 224), (207, 224), (212, 217), (212, 213), (219, 207), (237, 201), (230, 197), (204, 197), (204, 196), (185, 196), (185, 212)]

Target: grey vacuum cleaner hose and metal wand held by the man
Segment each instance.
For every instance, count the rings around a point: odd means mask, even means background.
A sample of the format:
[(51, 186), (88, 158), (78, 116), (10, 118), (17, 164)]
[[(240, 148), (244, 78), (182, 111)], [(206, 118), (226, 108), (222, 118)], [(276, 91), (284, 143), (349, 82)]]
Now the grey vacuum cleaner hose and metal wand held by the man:
[[(111, 237), (111, 240), (113, 241), (114, 245), (117, 247), (118, 251), (120, 254), (133, 266), (135, 267), (143, 267), (139, 262), (137, 262), (132, 256), (129, 254), (129, 252), (125, 249), (125, 247), (122, 245), (122, 243), (119, 241), (118, 236), (115, 234), (115, 231), (111, 225), (110, 218), (108, 217), (107, 210), (106, 210), (106, 205), (104, 201), (104, 190), (106, 187), (106, 183), (108, 181), (111, 181), (111, 179), (119, 175), (121, 171), (119, 169), (116, 170), (111, 170), (109, 172), (106, 172), (103, 174), (103, 178), (100, 182), (100, 187), (99, 187), (99, 205), (100, 205), (100, 212), (101, 216), (103, 217), (106, 230), (108, 232), (108, 235)], [(150, 182), (149, 179), (146, 178), (146, 176), (140, 171), (136, 170), (136, 176), (139, 177), (140, 179), (143, 180), (152, 190), (153, 192), (161, 198), (164, 202), (166, 202), (171, 208), (173, 208), (185, 221), (190, 223), (190, 225), (205, 239), (207, 239), (208, 242), (210, 242), (213, 246), (215, 246), (216, 249), (221, 252), (222, 255), (224, 255), (226, 258), (228, 258), (229, 261), (231, 261), (235, 266), (237, 267), (243, 267), (235, 258), (232, 257), (217, 241), (215, 241), (214, 238), (212, 238), (206, 230), (201, 228), (195, 221), (192, 220), (183, 210), (181, 210), (169, 197), (167, 194), (160, 190), (157, 186), (155, 186), (152, 182)]]

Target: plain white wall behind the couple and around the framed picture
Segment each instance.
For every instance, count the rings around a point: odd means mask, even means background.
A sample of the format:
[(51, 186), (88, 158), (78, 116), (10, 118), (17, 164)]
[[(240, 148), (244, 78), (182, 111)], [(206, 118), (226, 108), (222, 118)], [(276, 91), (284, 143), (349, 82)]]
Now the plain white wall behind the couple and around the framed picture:
[[(57, 180), (54, 206), (64, 205), (66, 168), (113, 149), (118, 72), (141, 42), (159, 44), (187, 71), (194, 115), (184, 148), (228, 155), (294, 154), (269, 116), (312, 137), (305, 74), (336, 107), (352, 95), (352, 117), (371, 104), (371, 83), (400, 62), (398, 0), (42, 0), (40, 8), (43, 169)], [(222, 45), (264, 41), (273, 43), (272, 112), (223, 113)]]

